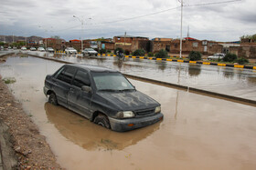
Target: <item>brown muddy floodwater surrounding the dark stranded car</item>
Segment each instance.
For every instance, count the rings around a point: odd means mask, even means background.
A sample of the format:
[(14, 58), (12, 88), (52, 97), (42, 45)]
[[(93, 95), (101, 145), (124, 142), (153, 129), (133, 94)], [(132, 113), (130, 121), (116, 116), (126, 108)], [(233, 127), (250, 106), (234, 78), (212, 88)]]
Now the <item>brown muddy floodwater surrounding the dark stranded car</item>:
[(131, 79), (162, 105), (162, 122), (116, 133), (50, 105), (45, 76), (61, 65), (9, 57), (0, 74), (67, 169), (256, 169), (256, 107)]

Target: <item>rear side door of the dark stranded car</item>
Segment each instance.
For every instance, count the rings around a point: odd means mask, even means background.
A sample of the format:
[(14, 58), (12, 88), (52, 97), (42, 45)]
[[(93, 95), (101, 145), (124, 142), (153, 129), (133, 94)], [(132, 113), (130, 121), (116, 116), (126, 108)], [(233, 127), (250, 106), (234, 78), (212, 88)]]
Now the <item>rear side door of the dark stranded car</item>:
[(76, 68), (67, 66), (53, 79), (53, 91), (57, 95), (59, 105), (68, 107), (68, 93), (75, 73)]

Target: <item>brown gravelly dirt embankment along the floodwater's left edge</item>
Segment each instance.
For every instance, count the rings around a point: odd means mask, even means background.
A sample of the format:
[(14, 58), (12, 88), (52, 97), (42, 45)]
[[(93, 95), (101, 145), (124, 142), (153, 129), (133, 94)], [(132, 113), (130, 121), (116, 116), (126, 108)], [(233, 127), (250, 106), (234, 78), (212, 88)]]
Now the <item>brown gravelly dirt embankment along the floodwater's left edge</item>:
[[(5, 56), (0, 58), (0, 64), (3, 62)], [(0, 129), (0, 151), (4, 169), (62, 169), (56, 163), (56, 157), (50, 150), (45, 136), (39, 134), (37, 125), (9, 92), (1, 75)], [(8, 145), (9, 150), (5, 148)]]

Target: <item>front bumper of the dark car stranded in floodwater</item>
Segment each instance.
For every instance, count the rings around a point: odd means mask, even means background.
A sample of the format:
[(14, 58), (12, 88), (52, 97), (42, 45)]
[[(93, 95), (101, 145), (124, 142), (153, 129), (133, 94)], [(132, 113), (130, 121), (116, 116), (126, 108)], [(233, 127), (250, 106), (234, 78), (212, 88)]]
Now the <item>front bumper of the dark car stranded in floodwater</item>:
[(139, 118), (129, 118), (129, 119), (115, 119), (112, 117), (109, 117), (110, 124), (113, 131), (118, 132), (124, 132), (124, 131), (130, 131), (133, 129), (137, 129), (140, 127), (144, 127), (147, 125), (153, 125), (156, 122), (159, 122), (160, 120), (163, 120), (164, 115), (162, 113), (151, 115), (151, 116), (145, 116), (145, 117), (139, 117)]

